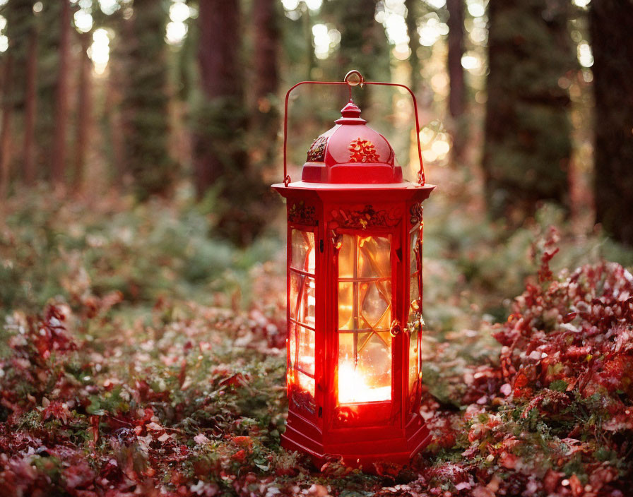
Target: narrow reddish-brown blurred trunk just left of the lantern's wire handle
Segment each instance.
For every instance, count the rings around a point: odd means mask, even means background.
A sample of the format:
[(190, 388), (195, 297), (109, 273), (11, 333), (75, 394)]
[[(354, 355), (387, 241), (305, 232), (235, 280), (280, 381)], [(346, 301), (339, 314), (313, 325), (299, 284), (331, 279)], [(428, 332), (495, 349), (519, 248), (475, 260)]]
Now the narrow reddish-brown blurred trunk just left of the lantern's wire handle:
[(254, 96), (252, 114), (259, 169), (270, 167), (277, 149), (279, 112), (277, 92), (279, 87), (278, 52), (280, 30), (278, 26), (277, 0), (255, 0), (253, 11), (254, 47)]

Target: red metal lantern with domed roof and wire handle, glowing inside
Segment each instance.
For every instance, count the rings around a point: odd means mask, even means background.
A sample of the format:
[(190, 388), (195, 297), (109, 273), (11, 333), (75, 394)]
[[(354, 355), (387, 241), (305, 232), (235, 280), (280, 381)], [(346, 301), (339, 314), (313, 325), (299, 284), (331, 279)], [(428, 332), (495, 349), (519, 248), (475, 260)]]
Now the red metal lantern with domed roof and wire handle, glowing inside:
[[(302, 180), (285, 168), (288, 208), (288, 422), (283, 447), (348, 465), (406, 463), (430, 438), (420, 406), (422, 200), (394, 150), (352, 102), (307, 152)], [(357, 84), (356, 83), (356, 84)], [(415, 109), (415, 97), (408, 88)], [(350, 88), (351, 95), (351, 88)]]

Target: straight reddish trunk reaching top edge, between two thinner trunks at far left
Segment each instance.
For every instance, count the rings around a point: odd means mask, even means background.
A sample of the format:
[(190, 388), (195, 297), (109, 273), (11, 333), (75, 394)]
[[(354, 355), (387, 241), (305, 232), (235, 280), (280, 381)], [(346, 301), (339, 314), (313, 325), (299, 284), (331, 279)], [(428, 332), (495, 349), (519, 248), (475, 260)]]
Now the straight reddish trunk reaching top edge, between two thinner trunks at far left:
[(57, 94), (55, 102), (55, 138), (52, 157), (52, 180), (63, 184), (66, 174), (66, 129), (69, 116), (69, 64), (71, 56), (71, 4), (62, 0), (61, 28), (59, 34), (59, 64), (57, 72)]

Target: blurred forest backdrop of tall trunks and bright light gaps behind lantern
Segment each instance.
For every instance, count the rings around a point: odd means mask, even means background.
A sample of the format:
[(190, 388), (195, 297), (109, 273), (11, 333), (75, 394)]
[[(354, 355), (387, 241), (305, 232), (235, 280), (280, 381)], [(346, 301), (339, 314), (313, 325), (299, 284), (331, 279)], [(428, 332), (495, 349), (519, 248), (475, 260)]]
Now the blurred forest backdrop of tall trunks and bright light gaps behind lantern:
[[(511, 223), (543, 200), (568, 208), (576, 195), (590, 208), (591, 180), (577, 176), (594, 171), (593, 91), (596, 216), (630, 244), (617, 217), (632, 196), (630, 5), (0, 0), (0, 193), (54, 181), (66, 193), (114, 188), (143, 203), (184, 187), (215, 232), (248, 244), (278, 205), (268, 184), (280, 176), (283, 92), (356, 68), (410, 83), (430, 177), (451, 169), (464, 185), (474, 179), (490, 214)], [(346, 97), (321, 90), (291, 102), (293, 178)], [(365, 88), (354, 98), (413, 177), (406, 95)]]

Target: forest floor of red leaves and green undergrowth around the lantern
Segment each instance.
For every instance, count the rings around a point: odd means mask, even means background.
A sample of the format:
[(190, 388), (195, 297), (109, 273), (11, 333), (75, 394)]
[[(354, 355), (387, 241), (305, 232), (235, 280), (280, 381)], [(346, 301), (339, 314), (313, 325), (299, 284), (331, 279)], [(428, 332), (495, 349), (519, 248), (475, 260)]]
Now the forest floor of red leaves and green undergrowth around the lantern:
[(478, 212), (450, 198), (425, 211), (433, 439), (370, 476), (279, 446), (275, 227), (238, 251), (187, 195), (14, 196), (0, 227), (0, 495), (630, 496), (633, 277), (618, 263), (632, 254), (547, 206), (511, 232)]

